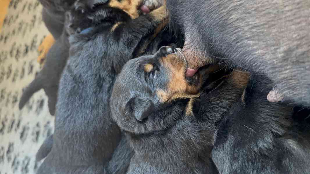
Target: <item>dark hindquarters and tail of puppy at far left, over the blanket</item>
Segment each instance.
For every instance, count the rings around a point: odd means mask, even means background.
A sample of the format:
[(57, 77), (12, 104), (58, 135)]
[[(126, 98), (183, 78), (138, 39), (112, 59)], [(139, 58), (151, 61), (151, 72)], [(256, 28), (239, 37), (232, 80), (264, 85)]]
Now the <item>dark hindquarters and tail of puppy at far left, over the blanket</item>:
[(48, 97), (50, 114), (55, 114), (59, 80), (69, 57), (69, 35), (74, 34), (71, 28), (69, 28), (70, 24), (68, 14), (63, 33), (48, 51), (42, 70), (23, 91), (19, 102), (19, 109), (24, 107), (34, 93), (43, 89)]

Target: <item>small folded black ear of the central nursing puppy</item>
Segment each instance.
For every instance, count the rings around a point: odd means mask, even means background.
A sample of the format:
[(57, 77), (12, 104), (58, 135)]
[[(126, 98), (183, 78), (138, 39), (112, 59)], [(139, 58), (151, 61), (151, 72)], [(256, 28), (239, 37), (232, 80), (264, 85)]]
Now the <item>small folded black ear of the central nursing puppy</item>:
[(147, 118), (154, 109), (154, 103), (149, 98), (134, 97), (131, 98), (126, 104), (126, 109), (138, 121), (143, 121)]

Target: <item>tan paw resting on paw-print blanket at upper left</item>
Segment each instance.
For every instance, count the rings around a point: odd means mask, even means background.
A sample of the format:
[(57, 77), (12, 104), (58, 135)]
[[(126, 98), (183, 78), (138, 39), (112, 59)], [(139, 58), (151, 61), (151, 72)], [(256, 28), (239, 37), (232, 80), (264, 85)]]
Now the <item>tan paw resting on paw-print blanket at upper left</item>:
[(55, 43), (54, 37), (49, 34), (47, 35), (41, 45), (38, 47), (38, 52), (40, 55), (38, 56), (37, 61), (40, 63), (41, 66), (43, 66), (45, 62), (45, 57), (48, 51), (50, 50), (51, 46)]

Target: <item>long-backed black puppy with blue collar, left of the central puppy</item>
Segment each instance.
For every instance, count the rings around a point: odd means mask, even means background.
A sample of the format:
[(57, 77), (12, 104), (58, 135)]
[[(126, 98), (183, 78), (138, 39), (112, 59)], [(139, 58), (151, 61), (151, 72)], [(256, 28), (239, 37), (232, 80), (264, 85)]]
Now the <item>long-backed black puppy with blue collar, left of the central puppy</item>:
[(144, 53), (139, 45), (147, 45), (167, 17), (164, 6), (139, 15), (140, 5), (111, 0), (73, 6), (69, 30), (75, 34), (60, 79), (52, 148), (37, 173), (107, 173), (121, 138), (108, 107), (114, 79), (128, 60)]

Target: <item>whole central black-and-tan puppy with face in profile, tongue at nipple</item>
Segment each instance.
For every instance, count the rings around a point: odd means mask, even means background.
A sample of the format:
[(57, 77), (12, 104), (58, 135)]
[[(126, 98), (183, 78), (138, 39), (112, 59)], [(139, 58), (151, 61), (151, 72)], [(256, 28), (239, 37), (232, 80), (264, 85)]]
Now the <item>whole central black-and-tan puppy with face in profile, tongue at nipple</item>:
[(162, 47), (128, 61), (117, 77), (110, 109), (135, 152), (127, 174), (217, 173), (210, 160), (215, 123), (241, 97), (249, 75), (233, 71), (199, 94), (203, 71), (186, 79), (186, 69), (180, 49)]

